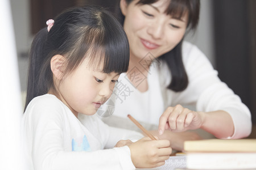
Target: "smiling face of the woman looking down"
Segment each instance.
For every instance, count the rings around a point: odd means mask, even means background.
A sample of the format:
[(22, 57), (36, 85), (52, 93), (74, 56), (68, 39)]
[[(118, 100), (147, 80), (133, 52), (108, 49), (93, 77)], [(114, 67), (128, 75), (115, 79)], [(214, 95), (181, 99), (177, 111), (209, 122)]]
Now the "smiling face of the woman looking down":
[(150, 5), (141, 5), (134, 0), (129, 5), (121, 0), (120, 6), (125, 21), (123, 28), (130, 44), (131, 57), (143, 58), (148, 52), (159, 57), (172, 50), (183, 39), (188, 16), (181, 20), (166, 15), (168, 0), (159, 0)]

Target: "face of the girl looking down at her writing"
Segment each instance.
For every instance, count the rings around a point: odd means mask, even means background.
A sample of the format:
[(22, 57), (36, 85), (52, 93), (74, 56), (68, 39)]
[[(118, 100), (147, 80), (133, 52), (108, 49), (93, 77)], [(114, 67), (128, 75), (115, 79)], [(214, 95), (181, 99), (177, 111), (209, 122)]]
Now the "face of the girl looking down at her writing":
[(61, 101), (77, 116), (77, 113), (92, 115), (112, 94), (117, 73), (102, 73), (102, 65), (93, 70), (85, 58), (75, 71), (64, 77), (60, 83)]

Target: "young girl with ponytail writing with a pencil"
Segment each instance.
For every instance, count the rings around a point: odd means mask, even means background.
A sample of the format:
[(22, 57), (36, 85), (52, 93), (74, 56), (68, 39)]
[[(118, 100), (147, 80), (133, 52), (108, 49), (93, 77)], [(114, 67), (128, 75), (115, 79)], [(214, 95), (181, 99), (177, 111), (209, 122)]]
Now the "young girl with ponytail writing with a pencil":
[(30, 169), (163, 165), (172, 151), (169, 141), (118, 142), (142, 135), (110, 128), (94, 115), (129, 65), (127, 37), (117, 20), (88, 6), (64, 11), (47, 24), (31, 46), (22, 124)]

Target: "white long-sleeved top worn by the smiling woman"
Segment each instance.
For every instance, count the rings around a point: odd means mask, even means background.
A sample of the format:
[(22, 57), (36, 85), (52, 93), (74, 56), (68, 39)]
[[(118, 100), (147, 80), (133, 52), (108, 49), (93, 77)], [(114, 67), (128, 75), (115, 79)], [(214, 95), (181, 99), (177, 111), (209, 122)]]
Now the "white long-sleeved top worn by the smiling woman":
[[(230, 114), (234, 122), (234, 134), (228, 138), (246, 137), (251, 132), (251, 114), (239, 96), (217, 76), (208, 58), (189, 42), (183, 42), (183, 63), (188, 75), (188, 87), (182, 92), (167, 88), (171, 82), (171, 73), (166, 63), (155, 59), (144, 76), (148, 90), (140, 92), (131, 84), (127, 75), (136, 79), (133, 69), (121, 74), (114, 88), (111, 100), (115, 100), (113, 117), (104, 118), (108, 124), (120, 126), (116, 120), (127, 118), (131, 114), (138, 121), (158, 126), (159, 118), (167, 107), (181, 104), (196, 111), (210, 112), (223, 110)], [(147, 55), (151, 55), (148, 53)], [(151, 56), (154, 57), (154, 56)], [(113, 121), (112, 121), (113, 120)], [(129, 120), (128, 120), (129, 121)], [(126, 121), (122, 121), (126, 122)], [(124, 128), (122, 124), (122, 128)]]

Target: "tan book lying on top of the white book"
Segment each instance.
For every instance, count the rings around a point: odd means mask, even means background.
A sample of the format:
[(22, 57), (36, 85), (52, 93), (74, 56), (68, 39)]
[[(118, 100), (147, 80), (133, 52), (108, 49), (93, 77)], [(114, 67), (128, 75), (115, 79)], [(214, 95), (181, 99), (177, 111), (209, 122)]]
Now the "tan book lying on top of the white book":
[(256, 139), (204, 139), (185, 141), (186, 152), (256, 152)]

